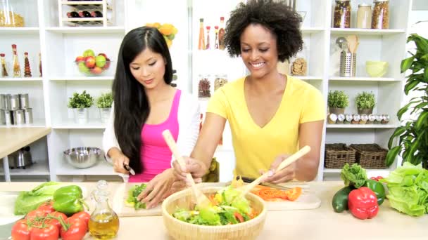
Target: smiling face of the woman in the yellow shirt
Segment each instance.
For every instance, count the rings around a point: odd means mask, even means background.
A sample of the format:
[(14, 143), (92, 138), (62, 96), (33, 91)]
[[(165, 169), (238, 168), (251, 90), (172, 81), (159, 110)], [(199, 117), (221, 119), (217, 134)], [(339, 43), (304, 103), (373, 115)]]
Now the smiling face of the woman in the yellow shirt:
[(241, 58), (251, 72), (260, 79), (277, 68), (277, 39), (260, 24), (251, 24), (241, 34)]

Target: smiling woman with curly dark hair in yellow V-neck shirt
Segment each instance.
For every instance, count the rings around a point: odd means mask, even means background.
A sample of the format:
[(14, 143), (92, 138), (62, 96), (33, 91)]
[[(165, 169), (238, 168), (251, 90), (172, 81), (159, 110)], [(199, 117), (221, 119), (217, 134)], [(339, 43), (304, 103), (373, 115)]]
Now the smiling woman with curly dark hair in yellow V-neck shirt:
[[(201, 178), (222, 136), (226, 121), (232, 131), (236, 175), (257, 178), (270, 170), (266, 182), (309, 181), (320, 162), (325, 105), (315, 87), (277, 71), (277, 63), (296, 55), (303, 45), (301, 18), (283, 2), (249, 0), (231, 12), (225, 29), (229, 55), (241, 56), (249, 71), (219, 88), (208, 104), (206, 120), (184, 172)], [(311, 150), (294, 164), (274, 169), (301, 147)]]

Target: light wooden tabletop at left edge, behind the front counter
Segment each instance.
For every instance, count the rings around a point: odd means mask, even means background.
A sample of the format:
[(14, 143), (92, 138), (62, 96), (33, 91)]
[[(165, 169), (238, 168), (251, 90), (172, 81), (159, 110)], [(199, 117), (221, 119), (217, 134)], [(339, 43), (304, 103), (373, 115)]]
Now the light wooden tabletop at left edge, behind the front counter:
[(0, 128), (0, 159), (51, 133), (51, 128)]

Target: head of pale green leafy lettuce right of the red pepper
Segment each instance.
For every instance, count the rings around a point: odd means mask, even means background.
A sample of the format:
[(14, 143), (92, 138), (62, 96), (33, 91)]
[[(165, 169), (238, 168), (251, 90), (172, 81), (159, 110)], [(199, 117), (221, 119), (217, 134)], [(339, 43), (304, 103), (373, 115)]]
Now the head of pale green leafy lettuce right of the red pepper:
[(389, 190), (386, 197), (392, 208), (413, 216), (428, 213), (428, 171), (422, 164), (405, 162), (379, 181), (386, 182)]

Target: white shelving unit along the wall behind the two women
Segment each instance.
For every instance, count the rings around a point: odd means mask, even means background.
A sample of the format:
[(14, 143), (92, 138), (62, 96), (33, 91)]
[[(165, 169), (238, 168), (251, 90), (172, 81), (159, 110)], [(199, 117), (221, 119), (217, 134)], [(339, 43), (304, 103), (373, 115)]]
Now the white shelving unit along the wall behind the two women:
[[(84, 4), (84, 1), (78, 1)], [(350, 97), (346, 113), (355, 113), (355, 95), (361, 91), (372, 91), (377, 99), (374, 113), (389, 114), (386, 125), (326, 124), (322, 135), (320, 168), (317, 180), (339, 178), (339, 169), (324, 168), (325, 143), (377, 143), (386, 147), (389, 136), (398, 126), (396, 112), (403, 99), (403, 81), (400, 62), (405, 57), (405, 39), (412, 1), (390, 0), (390, 29), (356, 29), (358, 4), (365, 0), (351, 1), (350, 29), (332, 28), (334, 0), (299, 0), (296, 11), (306, 12), (302, 24), (305, 49), (298, 53), (308, 62), (308, 76), (298, 78), (319, 89), (325, 96), (330, 90), (344, 90)], [(23, 11), (25, 27), (0, 28), (0, 52), (6, 53), (11, 62), (11, 44), (18, 45), (18, 54), (23, 67), (23, 52), (30, 53), (33, 76), (30, 79), (0, 78), (1, 93), (30, 92), (35, 126), (52, 127), (45, 141), (46, 151), (40, 159), (46, 161), (51, 180), (81, 179), (84, 175), (93, 178), (115, 175), (105, 162), (86, 170), (70, 167), (65, 163), (63, 150), (70, 147), (101, 147), (103, 128), (96, 107), (90, 109), (89, 124), (75, 124), (73, 113), (67, 108), (68, 98), (73, 92), (87, 90), (93, 97), (110, 91), (120, 43), (126, 32), (148, 22), (172, 23), (179, 30), (172, 41), (170, 52), (173, 68), (177, 69), (177, 87), (198, 94), (199, 74), (210, 74), (213, 93), (215, 74), (227, 74), (233, 81), (246, 74), (240, 58), (229, 58), (226, 51), (198, 51), (199, 18), (204, 26), (210, 25), (210, 38), (214, 40), (214, 25), (220, 25), (220, 16), (229, 18), (229, 11), (239, 3), (234, 1), (203, 0), (128, 0), (114, 1), (115, 20), (108, 27), (61, 27), (59, 25), (58, 0), (24, 1), (14, 4)], [(162, 13), (162, 14), (160, 14)], [(357, 71), (353, 78), (339, 77), (339, 47), (335, 41), (339, 36), (357, 34), (360, 45), (357, 52)], [(213, 46), (213, 44), (211, 44)], [(113, 61), (110, 71), (103, 76), (88, 77), (77, 71), (74, 60), (85, 49), (106, 53)], [(38, 75), (38, 54), (42, 53), (43, 76)], [(291, 59), (292, 62), (293, 59)], [(365, 61), (386, 60), (389, 70), (382, 78), (372, 78), (365, 72)], [(208, 99), (201, 99), (204, 110)], [(37, 107), (39, 106), (39, 107)], [(327, 108), (326, 108), (327, 111)], [(227, 126), (228, 128), (228, 126)], [(43, 142), (43, 141), (42, 141)], [(43, 147), (38, 147), (43, 149)], [(234, 154), (229, 129), (225, 129), (223, 145), (216, 152), (220, 161), (220, 180), (229, 180), (234, 167)], [(394, 169), (394, 165), (391, 169)], [(46, 168), (37, 170), (46, 173)], [(370, 170), (377, 171), (377, 170)], [(388, 169), (382, 171), (389, 171)]]

